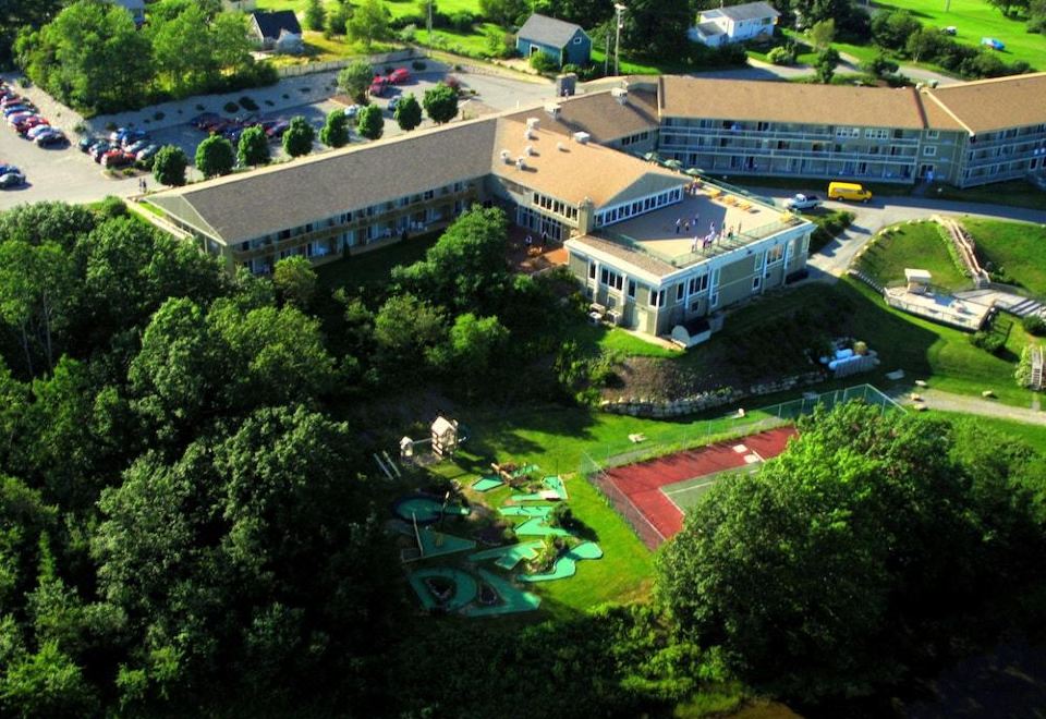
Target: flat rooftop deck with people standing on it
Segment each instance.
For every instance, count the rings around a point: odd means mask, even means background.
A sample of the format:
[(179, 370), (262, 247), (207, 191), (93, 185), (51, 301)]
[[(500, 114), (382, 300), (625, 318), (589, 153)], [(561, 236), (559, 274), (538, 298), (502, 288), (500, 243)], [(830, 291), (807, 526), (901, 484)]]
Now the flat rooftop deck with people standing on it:
[(741, 193), (704, 184), (683, 202), (594, 234), (670, 267), (694, 265), (763, 240), (804, 220)]

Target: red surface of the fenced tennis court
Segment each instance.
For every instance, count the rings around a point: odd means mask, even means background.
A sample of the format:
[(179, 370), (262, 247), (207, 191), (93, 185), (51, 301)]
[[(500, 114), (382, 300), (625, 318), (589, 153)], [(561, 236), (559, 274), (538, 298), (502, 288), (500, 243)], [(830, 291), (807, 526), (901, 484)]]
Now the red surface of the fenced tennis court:
[[(752, 453), (768, 460), (784, 451), (794, 427), (779, 427), (728, 442), (627, 464), (606, 472), (606, 477), (640, 511), (662, 538), (683, 528), (683, 513), (662, 492), (661, 487), (685, 479), (743, 467)], [(734, 450), (739, 444), (744, 452)]]

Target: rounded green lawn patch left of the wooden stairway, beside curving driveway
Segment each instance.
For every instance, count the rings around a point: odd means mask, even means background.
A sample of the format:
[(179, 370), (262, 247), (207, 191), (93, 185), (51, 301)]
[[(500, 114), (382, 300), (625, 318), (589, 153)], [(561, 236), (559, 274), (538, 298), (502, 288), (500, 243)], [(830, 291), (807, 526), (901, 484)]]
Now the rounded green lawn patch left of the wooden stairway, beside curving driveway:
[(858, 266), (883, 285), (903, 282), (904, 269), (915, 268), (928, 270), (933, 283), (947, 290), (972, 288), (970, 278), (956, 267), (936, 222), (895, 226), (889, 235), (867, 246)]

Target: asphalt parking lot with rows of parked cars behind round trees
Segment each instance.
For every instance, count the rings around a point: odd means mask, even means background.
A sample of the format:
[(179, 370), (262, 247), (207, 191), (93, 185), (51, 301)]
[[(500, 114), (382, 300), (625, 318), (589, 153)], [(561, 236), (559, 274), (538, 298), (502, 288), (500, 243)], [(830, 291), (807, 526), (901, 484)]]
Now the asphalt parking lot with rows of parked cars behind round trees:
[[(408, 65), (409, 66), (409, 65)], [(551, 97), (552, 86), (549, 83), (515, 80), (500, 75), (487, 75), (470, 72), (451, 72), (461, 81), (465, 94), (462, 97), (461, 108), (465, 117), (475, 117), (485, 111), (508, 110), (516, 107), (539, 103)], [(391, 112), (387, 110), (389, 100), (400, 95), (412, 93), (421, 101), (425, 90), (434, 87), (447, 75), (447, 70), (429, 63), (426, 72), (416, 74), (412, 71), (408, 83), (396, 86), (385, 97), (374, 98), (373, 102), (385, 109), (385, 136), (396, 136), (402, 133)], [(343, 108), (332, 99), (336, 73), (316, 73), (302, 77), (288, 78), (272, 87), (242, 90), (236, 94), (221, 96), (195, 97), (178, 103), (167, 103), (162, 110), (147, 108), (138, 112), (123, 113), (122, 115), (96, 118), (88, 125), (89, 134), (106, 135), (106, 125), (137, 126), (149, 131), (153, 142), (159, 145), (178, 145), (185, 150), (192, 162), (196, 146), (206, 137), (206, 134), (194, 129), (188, 121), (200, 112), (216, 112), (226, 118), (256, 114), (262, 120), (289, 120), (294, 115), (304, 115), (317, 130), (323, 126), (327, 113), (336, 108)], [(472, 95), (469, 90), (475, 90)], [(87, 155), (76, 147), (77, 135), (72, 132), (80, 122), (78, 115), (63, 108), (46, 96), (38, 88), (25, 88), (24, 94), (31, 97), (40, 108), (40, 111), (52, 119), (52, 124), (61, 126), (73, 141), (66, 148), (42, 149), (33, 143), (20, 137), (14, 130), (4, 125), (0, 127), (0, 162), (15, 164), (26, 175), (24, 187), (0, 191), (0, 210), (13, 207), (21, 203), (61, 199), (70, 203), (87, 203), (101, 199), (107, 195), (129, 196), (138, 192), (137, 178), (113, 178), (95, 163)], [(241, 110), (236, 113), (224, 111), (224, 103), (230, 99), (250, 96), (259, 109), (255, 113)], [(474, 99), (473, 99), (474, 98)], [(167, 121), (158, 123), (155, 118), (163, 115)], [(64, 121), (63, 121), (64, 120)], [(153, 120), (153, 122), (149, 122)], [(166, 124), (162, 127), (150, 129), (156, 124)], [(97, 130), (89, 131), (89, 125)], [(422, 127), (431, 125), (427, 118)], [(352, 133), (351, 142), (366, 142)], [(325, 149), (318, 139), (315, 151)], [(279, 142), (272, 143), (273, 159), (282, 159), (283, 153)], [(143, 174), (153, 187), (151, 175)], [(194, 169), (188, 171), (190, 180), (200, 179)]]

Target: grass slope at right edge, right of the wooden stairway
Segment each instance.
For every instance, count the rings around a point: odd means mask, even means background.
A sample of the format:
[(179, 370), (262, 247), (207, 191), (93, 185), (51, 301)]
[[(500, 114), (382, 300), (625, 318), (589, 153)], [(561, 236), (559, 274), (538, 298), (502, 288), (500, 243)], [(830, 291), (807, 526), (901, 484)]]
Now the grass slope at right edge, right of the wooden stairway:
[(982, 263), (1006, 270), (1005, 280), (1030, 293), (1046, 297), (1046, 228), (1023, 222), (966, 218), (963, 224), (973, 235)]

